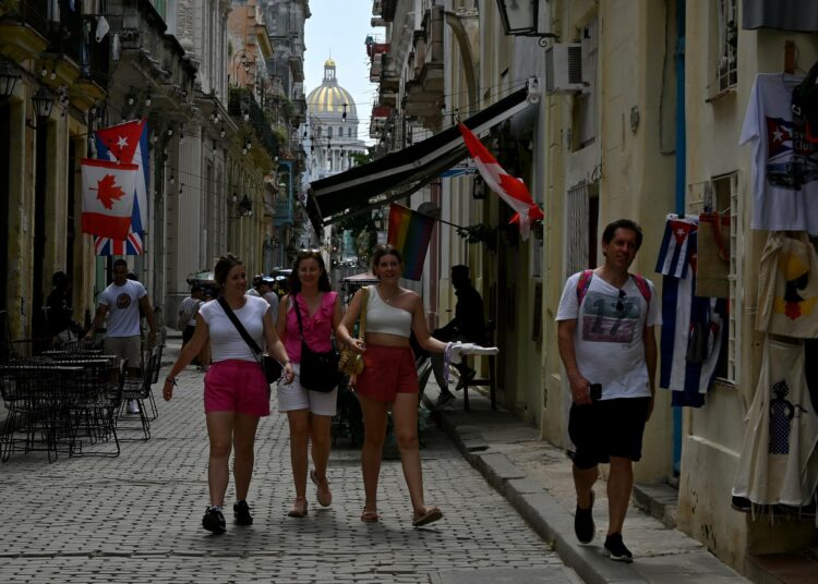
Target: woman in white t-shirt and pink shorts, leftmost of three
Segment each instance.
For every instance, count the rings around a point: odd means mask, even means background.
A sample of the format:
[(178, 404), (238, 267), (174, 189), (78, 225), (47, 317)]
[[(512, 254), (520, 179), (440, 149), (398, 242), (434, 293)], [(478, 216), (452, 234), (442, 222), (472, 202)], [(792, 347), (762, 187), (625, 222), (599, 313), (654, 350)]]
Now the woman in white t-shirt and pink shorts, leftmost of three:
[(258, 348), (266, 343), (267, 352), (284, 364), (288, 382), (292, 381), (294, 372), (273, 326), (269, 305), (263, 299), (245, 294), (248, 279), (241, 260), (228, 254), (218, 259), (213, 271), (224, 304), (216, 300), (199, 309), (193, 338), (170, 368), (163, 397), (166, 401), (172, 399), (177, 376), (209, 341), (213, 365), (204, 379), (204, 410), (210, 442), (207, 465), (210, 504), (202, 525), (220, 534), (226, 531), (222, 507), (231, 450), (236, 480), (233, 519), (239, 525), (253, 523), (246, 496), (253, 474), (255, 431), (258, 419), (269, 415), (269, 385), (261, 366), (261, 355), (244, 341), (229, 314), (238, 319)]

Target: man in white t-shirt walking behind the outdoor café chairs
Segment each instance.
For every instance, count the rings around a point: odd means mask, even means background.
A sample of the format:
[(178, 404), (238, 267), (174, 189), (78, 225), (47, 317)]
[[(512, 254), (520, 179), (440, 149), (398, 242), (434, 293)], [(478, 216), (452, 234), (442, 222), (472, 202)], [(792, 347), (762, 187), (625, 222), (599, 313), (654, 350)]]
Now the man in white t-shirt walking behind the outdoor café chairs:
[[(99, 294), (99, 306), (86, 339), (94, 336), (97, 327), (108, 316), (105, 329), (105, 352), (128, 360), (129, 376), (140, 375), (142, 362), (142, 334), (140, 329), (140, 308), (149, 327), (148, 341), (156, 343), (156, 324), (154, 309), (141, 282), (128, 279), (128, 263), (124, 259), (113, 261), (113, 282)], [(139, 413), (135, 404), (129, 404), (129, 413)]]

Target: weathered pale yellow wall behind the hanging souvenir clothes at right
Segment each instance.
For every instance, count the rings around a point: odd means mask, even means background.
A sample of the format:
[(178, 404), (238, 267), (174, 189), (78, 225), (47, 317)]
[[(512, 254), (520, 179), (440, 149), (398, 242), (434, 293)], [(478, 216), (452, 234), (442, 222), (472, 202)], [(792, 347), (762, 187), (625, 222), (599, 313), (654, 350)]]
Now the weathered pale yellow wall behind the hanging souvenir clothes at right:
[[(739, 3), (741, 11), (741, 3)], [(709, 3), (687, 3), (686, 110), (687, 183), (739, 173), (741, 228), (744, 232), (739, 342), (741, 369), (736, 386), (717, 385), (707, 403), (685, 413), (685, 434), (679, 483), (678, 527), (705, 543), (722, 561), (745, 569), (748, 552), (798, 549), (814, 537), (809, 521), (769, 523), (763, 514), (751, 515), (730, 507), (733, 478), (744, 436), (744, 417), (755, 393), (763, 337), (754, 330), (758, 264), (766, 232), (750, 231), (750, 146), (738, 146), (750, 89), (756, 73), (783, 70), (784, 41), (796, 45), (798, 73), (818, 56), (816, 35), (762, 29), (739, 29), (738, 83), (735, 90), (717, 96), (712, 47), (717, 35), (715, 11)], [(741, 16), (739, 16), (741, 22)], [(714, 98), (715, 96), (715, 98)]]

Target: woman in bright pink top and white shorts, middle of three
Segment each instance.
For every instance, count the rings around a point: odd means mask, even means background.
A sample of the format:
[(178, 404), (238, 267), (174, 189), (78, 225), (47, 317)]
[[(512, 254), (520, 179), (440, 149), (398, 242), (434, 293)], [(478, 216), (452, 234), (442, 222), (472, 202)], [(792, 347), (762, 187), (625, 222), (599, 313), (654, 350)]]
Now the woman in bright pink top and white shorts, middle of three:
[[(301, 327), (299, 327), (299, 311)], [(296, 256), (290, 275), (290, 293), (281, 299), (276, 329), (296, 369), (296, 380), (278, 386), (278, 409), (287, 414), (290, 428), (290, 464), (296, 486), (291, 518), (306, 515), (308, 449), (314, 469), (310, 479), (317, 487), (323, 507), (333, 502), (327, 479), (332, 445), (330, 428), (336, 413), (338, 388), (314, 391), (301, 385), (301, 329), (310, 350), (324, 353), (333, 349), (333, 333), (341, 320), (340, 300), (332, 290), (324, 258), (315, 250), (302, 250)]]

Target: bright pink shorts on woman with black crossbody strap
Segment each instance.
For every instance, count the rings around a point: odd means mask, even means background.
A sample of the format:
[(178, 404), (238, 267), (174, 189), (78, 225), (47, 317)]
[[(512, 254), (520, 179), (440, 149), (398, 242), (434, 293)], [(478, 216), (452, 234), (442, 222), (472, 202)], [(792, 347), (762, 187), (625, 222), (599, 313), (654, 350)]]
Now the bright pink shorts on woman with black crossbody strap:
[(269, 415), (269, 386), (261, 365), (254, 361), (229, 358), (210, 365), (205, 375), (204, 397), (205, 414)]

